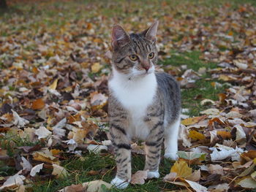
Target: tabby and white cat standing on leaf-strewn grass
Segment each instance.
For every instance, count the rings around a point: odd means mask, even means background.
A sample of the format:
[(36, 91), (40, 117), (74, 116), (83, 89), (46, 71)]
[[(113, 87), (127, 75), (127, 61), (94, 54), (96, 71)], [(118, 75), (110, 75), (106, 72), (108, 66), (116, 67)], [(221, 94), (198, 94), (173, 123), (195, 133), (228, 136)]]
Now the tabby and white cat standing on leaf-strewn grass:
[(164, 138), (165, 158), (177, 158), (181, 93), (172, 76), (154, 72), (157, 26), (158, 21), (139, 34), (127, 34), (118, 25), (112, 30), (108, 115), (117, 165), (111, 184), (117, 188), (127, 188), (131, 180), (133, 137), (146, 141), (144, 170), (148, 170), (148, 178), (159, 177)]

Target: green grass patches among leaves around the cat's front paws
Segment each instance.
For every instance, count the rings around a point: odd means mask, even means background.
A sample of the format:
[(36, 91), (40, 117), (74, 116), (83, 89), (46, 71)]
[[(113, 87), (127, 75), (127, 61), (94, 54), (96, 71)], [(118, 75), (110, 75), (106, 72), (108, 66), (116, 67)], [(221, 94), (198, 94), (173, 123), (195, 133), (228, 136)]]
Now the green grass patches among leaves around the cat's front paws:
[[(100, 156), (94, 153), (83, 155), (83, 161), (80, 159), (71, 159), (64, 161), (62, 166), (64, 166), (68, 172), (69, 176), (63, 179), (46, 180), (34, 183), (33, 191), (57, 191), (65, 186), (72, 184), (85, 183), (92, 180), (104, 180), (110, 183), (110, 181), (115, 177), (115, 166), (113, 155)], [(135, 173), (138, 170), (143, 170), (145, 158), (143, 155), (132, 155), (132, 172)], [(165, 174), (170, 172), (170, 166), (172, 164), (167, 159), (162, 159), (160, 164), (160, 174), (164, 177)], [(93, 171), (104, 171), (104, 174), (89, 175), (88, 173)], [(129, 185), (125, 190), (118, 190), (116, 188), (111, 188), (109, 191), (161, 191), (162, 188), (172, 189), (173, 185), (162, 182), (162, 178), (155, 180), (148, 180), (144, 185)]]

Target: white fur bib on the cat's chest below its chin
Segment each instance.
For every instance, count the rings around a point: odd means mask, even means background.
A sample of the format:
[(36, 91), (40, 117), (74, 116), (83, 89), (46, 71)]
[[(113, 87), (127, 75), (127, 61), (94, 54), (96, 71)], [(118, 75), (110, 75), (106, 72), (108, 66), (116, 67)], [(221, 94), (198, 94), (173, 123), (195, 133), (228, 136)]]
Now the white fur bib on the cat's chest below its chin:
[(147, 107), (152, 104), (157, 92), (157, 79), (154, 73), (129, 80), (127, 75), (113, 69), (113, 78), (108, 83), (116, 99), (129, 112), (131, 118), (127, 133), (130, 137), (146, 139), (149, 130), (144, 123)]

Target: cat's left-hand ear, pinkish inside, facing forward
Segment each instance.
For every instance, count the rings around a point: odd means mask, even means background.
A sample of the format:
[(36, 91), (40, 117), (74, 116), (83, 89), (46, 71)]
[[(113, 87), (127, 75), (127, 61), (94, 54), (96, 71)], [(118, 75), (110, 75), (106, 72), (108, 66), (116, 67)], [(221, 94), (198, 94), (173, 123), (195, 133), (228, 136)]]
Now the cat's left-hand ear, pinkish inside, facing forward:
[(124, 47), (129, 42), (129, 35), (124, 31), (121, 26), (115, 25), (112, 29), (112, 46)]

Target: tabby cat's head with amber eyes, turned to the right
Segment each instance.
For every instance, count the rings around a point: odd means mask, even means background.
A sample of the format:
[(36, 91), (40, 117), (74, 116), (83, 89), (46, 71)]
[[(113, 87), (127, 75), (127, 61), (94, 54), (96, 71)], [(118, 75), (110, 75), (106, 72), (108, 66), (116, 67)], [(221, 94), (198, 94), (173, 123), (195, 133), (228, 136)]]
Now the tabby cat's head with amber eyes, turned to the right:
[(112, 64), (117, 72), (143, 77), (154, 72), (157, 64), (158, 21), (139, 34), (127, 34), (121, 26), (113, 26)]

